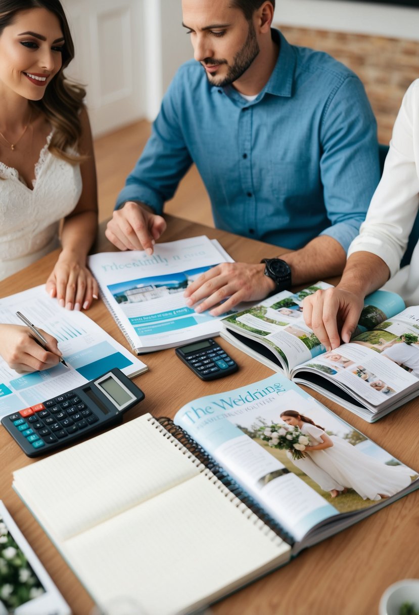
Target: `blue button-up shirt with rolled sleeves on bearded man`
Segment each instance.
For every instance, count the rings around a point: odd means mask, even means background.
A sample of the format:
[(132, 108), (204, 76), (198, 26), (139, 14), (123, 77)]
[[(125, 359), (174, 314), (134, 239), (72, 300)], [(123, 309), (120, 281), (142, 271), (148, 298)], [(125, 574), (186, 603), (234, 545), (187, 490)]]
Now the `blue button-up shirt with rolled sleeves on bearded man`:
[(251, 102), (181, 66), (117, 207), (161, 213), (194, 162), (217, 228), (285, 248), (326, 234), (347, 250), (380, 178), (374, 114), (350, 69), (272, 36), (278, 61)]

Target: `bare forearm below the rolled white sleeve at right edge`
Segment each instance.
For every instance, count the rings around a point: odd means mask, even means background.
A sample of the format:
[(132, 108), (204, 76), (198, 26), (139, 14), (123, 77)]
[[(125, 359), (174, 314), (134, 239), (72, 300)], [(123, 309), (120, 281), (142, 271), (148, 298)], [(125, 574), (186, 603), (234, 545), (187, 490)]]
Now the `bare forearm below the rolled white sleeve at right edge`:
[(380, 288), (390, 277), (386, 263), (371, 252), (354, 252), (348, 258), (338, 288), (364, 298)]

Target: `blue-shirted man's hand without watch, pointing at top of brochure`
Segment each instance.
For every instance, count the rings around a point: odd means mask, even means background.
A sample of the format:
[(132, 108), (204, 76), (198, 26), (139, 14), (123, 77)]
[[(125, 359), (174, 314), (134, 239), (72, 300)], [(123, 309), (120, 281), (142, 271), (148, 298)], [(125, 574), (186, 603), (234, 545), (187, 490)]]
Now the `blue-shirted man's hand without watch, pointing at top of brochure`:
[(166, 230), (162, 216), (152, 213), (146, 205), (128, 200), (114, 211), (105, 235), (119, 250), (146, 250), (153, 253), (155, 240)]

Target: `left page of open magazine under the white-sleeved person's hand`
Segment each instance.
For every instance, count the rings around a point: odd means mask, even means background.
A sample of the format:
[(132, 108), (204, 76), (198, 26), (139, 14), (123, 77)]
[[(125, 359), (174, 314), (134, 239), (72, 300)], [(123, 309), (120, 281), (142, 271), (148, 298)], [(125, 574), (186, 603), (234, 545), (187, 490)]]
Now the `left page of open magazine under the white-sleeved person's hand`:
[[(292, 368), (315, 359), (326, 350), (313, 331), (305, 325), (302, 313), (304, 298), (316, 290), (326, 288), (331, 288), (331, 285), (318, 282), (297, 293), (283, 291), (268, 297), (253, 308), (228, 315), (222, 320), (222, 328), (245, 335), (269, 347), (284, 371), (289, 373)], [(361, 333), (374, 327), (403, 308), (404, 303), (396, 293), (372, 293), (366, 297), (356, 332)], [(229, 339), (232, 341), (230, 337)], [(246, 343), (243, 338), (241, 341)], [(253, 347), (253, 350), (256, 349)]]

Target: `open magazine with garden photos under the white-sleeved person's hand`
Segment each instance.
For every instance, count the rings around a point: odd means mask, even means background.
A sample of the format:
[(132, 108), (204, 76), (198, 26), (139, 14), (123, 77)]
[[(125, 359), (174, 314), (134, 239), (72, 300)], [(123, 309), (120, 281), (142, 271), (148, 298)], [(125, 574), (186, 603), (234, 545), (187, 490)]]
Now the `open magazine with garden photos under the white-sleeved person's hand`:
[(221, 335), (372, 423), (419, 394), (419, 307), (404, 309), (399, 295), (378, 290), (366, 297), (350, 343), (326, 352), (305, 325), (302, 301), (327, 287), (284, 291), (227, 315)]

